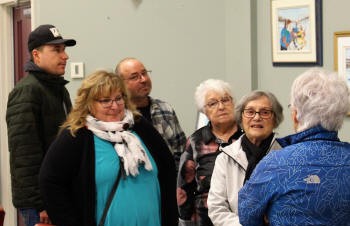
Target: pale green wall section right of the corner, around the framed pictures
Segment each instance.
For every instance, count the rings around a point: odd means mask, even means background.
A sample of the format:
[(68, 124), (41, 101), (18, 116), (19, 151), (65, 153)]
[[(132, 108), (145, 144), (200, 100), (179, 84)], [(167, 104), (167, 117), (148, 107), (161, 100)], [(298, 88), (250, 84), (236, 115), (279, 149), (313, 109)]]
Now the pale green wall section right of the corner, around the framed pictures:
[[(258, 56), (257, 78), (258, 88), (270, 90), (283, 103), (285, 120), (280, 126), (281, 135), (292, 133), (292, 123), (289, 103), (290, 86), (294, 78), (302, 73), (307, 67), (273, 67), (271, 52), (271, 24), (270, 24), (270, 1), (257, 0), (257, 49)], [(333, 70), (333, 34), (335, 31), (350, 30), (348, 0), (323, 0), (323, 68)], [(350, 141), (350, 117), (345, 119), (343, 128), (339, 132), (341, 139)]]

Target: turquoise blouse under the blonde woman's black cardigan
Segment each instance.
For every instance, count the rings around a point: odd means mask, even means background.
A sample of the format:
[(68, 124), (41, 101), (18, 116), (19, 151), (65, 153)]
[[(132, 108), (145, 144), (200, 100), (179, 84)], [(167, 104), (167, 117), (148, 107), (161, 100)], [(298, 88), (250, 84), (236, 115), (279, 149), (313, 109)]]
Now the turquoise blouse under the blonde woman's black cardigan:
[[(136, 135), (136, 134), (135, 134)], [(137, 135), (136, 135), (137, 136)], [(138, 137), (139, 138), (139, 137)], [(141, 141), (141, 139), (139, 138)], [(119, 172), (119, 157), (111, 142), (94, 136), (96, 222), (99, 223), (108, 195)], [(105, 226), (161, 225), (158, 169), (141, 141), (152, 164), (152, 171), (139, 167), (139, 175), (121, 178), (106, 216)]]

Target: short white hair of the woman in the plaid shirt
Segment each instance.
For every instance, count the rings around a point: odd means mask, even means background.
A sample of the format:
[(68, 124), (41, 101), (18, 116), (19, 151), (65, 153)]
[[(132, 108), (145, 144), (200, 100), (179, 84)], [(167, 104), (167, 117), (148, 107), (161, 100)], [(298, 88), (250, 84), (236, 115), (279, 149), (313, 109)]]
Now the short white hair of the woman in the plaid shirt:
[(230, 97), (232, 97), (232, 100), (234, 99), (232, 96), (231, 86), (227, 82), (219, 79), (205, 80), (197, 86), (196, 91), (194, 93), (194, 100), (196, 102), (197, 109), (202, 113), (205, 113), (205, 97), (209, 91), (215, 91), (222, 95), (228, 94), (230, 95)]

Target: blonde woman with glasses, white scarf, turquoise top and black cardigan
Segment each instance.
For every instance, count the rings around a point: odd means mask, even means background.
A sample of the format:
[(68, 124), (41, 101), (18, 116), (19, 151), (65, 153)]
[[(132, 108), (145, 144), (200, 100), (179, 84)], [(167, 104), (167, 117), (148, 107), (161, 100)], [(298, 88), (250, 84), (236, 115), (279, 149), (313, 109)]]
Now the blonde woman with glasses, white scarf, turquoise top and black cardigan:
[(123, 80), (106, 71), (87, 77), (40, 171), (52, 223), (175, 226), (175, 181), (168, 146)]

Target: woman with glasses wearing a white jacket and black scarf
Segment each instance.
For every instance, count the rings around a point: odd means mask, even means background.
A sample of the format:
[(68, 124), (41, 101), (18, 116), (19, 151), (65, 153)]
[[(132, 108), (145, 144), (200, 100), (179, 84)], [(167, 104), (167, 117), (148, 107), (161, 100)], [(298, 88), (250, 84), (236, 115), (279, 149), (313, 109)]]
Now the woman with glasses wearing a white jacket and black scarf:
[(253, 91), (244, 96), (235, 108), (235, 115), (245, 134), (222, 148), (215, 162), (208, 208), (216, 226), (240, 225), (239, 189), (259, 161), (270, 150), (280, 148), (273, 130), (283, 120), (283, 108), (272, 93)]

